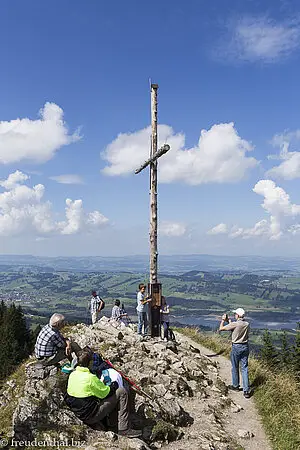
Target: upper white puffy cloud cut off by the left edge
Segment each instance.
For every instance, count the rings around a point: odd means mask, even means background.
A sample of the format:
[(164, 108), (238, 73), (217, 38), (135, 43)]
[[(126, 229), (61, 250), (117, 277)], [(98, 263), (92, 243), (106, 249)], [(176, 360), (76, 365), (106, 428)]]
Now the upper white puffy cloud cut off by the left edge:
[(22, 160), (44, 163), (62, 146), (78, 139), (78, 132), (69, 134), (63, 110), (55, 103), (46, 103), (40, 110), (40, 119), (0, 122), (0, 164)]

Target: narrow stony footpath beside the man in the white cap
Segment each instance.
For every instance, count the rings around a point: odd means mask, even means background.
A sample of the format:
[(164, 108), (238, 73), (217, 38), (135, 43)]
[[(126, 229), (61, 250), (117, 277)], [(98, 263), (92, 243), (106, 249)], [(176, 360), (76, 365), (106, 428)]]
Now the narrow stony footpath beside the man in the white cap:
[[(198, 348), (202, 355), (210, 357), (218, 363), (220, 378), (226, 383), (231, 384), (231, 363), (221, 355), (215, 355), (211, 350), (197, 344), (192, 339), (176, 333), (176, 339), (185, 344), (190, 344)], [(228, 393), (235, 404), (241, 407), (239, 412), (225, 413), (224, 427), (229, 435), (235, 436), (237, 442), (245, 450), (271, 450), (270, 443), (262, 427), (258, 412), (253, 399), (245, 399), (242, 392)], [(240, 437), (242, 432), (249, 432), (253, 437), (245, 439)]]

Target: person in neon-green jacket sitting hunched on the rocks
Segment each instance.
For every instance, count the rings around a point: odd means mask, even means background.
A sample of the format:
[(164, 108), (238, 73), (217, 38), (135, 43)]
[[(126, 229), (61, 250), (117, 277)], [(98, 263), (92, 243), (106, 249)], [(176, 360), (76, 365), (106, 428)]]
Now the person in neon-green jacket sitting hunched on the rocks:
[[(118, 434), (130, 438), (141, 436), (140, 430), (129, 428), (128, 393), (117, 382), (106, 386), (89, 366), (93, 361), (91, 349), (83, 349), (78, 364), (69, 376), (65, 401), (74, 414), (86, 425), (103, 429), (103, 421), (115, 409), (118, 411)], [(99, 428), (98, 428), (99, 429)]]

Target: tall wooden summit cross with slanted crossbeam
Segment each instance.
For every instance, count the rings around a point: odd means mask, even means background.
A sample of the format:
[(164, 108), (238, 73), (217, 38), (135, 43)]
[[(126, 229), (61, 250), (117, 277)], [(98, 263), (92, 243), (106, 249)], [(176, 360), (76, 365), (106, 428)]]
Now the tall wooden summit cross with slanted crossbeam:
[(157, 250), (157, 163), (158, 159), (170, 150), (168, 144), (157, 150), (157, 84), (151, 84), (151, 148), (150, 158), (135, 171), (142, 172), (150, 166), (150, 283), (149, 294), (152, 302), (149, 308), (151, 336), (160, 336), (161, 284), (158, 283), (158, 250)]

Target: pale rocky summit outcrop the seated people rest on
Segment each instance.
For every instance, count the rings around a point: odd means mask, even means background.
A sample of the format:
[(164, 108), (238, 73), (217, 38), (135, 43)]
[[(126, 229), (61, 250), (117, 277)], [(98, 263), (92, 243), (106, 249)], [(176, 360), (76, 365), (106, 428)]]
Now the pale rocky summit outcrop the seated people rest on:
[(8, 441), (88, 450), (241, 448), (225, 430), (226, 416), (239, 406), (227, 396), (217, 364), (179, 333), (177, 342), (141, 340), (132, 328), (103, 317), (64, 334), (101, 353), (147, 394), (131, 390), (131, 422), (143, 430), (142, 439), (83, 425), (64, 404), (68, 375), (57, 367), (39, 368), (31, 358), (2, 387), (0, 418)]

